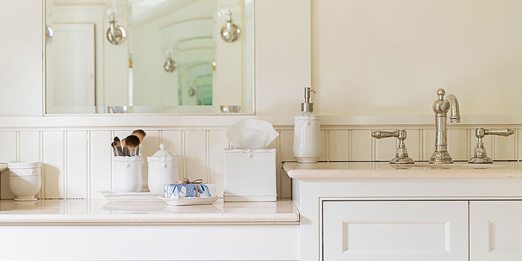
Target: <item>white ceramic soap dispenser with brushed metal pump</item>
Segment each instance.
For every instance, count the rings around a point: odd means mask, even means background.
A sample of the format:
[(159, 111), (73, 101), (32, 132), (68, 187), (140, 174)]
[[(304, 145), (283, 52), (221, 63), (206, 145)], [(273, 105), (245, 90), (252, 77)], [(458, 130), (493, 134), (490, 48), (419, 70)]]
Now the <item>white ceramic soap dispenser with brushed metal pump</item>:
[(294, 117), (294, 157), (299, 163), (315, 163), (321, 158), (321, 117), (315, 113), (310, 102), (310, 87), (304, 87), (301, 114)]

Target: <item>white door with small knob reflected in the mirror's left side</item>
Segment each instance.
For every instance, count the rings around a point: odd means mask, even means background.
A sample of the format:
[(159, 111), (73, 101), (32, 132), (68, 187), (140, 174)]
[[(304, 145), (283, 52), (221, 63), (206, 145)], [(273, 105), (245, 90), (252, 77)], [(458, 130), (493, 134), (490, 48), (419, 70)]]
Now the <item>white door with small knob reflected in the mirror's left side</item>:
[[(94, 24), (56, 23), (52, 40), (52, 106), (75, 108), (75, 112), (92, 112), (96, 105)], [(48, 93), (49, 94), (49, 93)], [(83, 108), (79, 107), (82, 106)]]

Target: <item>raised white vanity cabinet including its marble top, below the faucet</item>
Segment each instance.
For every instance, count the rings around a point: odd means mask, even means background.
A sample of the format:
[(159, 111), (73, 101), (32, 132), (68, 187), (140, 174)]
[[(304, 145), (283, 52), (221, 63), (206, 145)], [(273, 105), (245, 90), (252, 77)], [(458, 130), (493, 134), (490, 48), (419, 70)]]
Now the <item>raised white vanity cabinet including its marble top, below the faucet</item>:
[(520, 261), (522, 164), (286, 162), (301, 261)]

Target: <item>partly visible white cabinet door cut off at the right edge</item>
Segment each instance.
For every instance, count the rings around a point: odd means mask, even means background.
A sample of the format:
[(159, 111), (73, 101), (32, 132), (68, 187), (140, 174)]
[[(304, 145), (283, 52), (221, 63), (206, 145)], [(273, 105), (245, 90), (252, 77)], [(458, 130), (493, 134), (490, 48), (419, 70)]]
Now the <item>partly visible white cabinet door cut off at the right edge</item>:
[(522, 260), (522, 201), (470, 201), (471, 261)]

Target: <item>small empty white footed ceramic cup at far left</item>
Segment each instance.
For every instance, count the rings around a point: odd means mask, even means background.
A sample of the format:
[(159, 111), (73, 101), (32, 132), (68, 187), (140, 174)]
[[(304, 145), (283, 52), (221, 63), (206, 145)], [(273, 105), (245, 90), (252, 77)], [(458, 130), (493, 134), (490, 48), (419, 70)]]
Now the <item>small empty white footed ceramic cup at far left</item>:
[(9, 188), (15, 194), (16, 201), (31, 201), (37, 198), (42, 187), (42, 162), (10, 162), (9, 168)]

